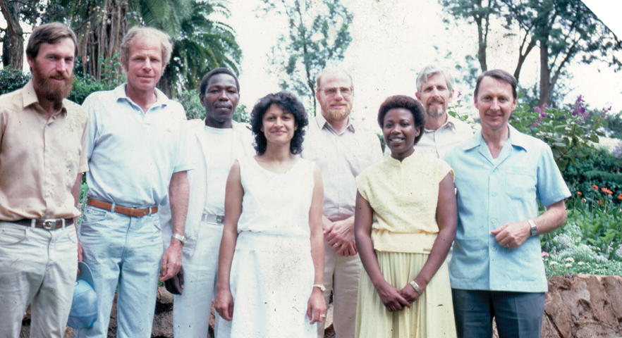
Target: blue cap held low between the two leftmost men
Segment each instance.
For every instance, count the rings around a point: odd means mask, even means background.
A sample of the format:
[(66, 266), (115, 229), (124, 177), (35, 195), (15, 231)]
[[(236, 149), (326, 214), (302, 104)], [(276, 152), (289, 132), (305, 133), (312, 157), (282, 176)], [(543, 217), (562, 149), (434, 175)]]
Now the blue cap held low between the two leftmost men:
[(73, 303), (69, 311), (67, 325), (74, 329), (92, 327), (97, 320), (97, 294), (93, 289), (93, 274), (89, 265), (78, 262), (80, 275), (73, 287)]

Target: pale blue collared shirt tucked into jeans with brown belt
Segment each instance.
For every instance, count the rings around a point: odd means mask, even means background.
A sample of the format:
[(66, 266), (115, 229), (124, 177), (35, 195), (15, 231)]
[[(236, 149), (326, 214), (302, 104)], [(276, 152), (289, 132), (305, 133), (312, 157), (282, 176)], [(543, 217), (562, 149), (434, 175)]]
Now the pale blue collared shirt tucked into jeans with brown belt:
[(126, 95), (126, 84), (84, 101), (89, 197), (135, 208), (168, 204), (173, 173), (194, 168), (183, 107), (155, 92), (157, 102), (146, 113)]

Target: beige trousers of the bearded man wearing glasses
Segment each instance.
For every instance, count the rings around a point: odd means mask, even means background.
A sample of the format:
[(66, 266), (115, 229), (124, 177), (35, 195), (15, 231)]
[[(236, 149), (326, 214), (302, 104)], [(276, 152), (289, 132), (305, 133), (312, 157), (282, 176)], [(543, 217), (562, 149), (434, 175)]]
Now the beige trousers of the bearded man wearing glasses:
[[(362, 263), (358, 253), (355, 256), (337, 256), (324, 239), (324, 300), (329, 305), (333, 292), (333, 327), (336, 338), (353, 338), (356, 321), (358, 280)], [(324, 324), (324, 323), (322, 323)], [(324, 338), (324, 325), (317, 325), (317, 337)]]

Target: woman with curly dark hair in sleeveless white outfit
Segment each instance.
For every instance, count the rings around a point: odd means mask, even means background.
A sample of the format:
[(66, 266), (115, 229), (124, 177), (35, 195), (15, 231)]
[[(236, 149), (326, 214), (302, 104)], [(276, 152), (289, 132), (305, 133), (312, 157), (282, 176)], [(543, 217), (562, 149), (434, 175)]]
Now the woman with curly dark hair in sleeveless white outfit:
[(251, 113), (257, 155), (227, 178), (215, 309), (217, 337), (316, 337), (322, 296), (322, 175), (300, 158), (303, 104), (288, 92)]

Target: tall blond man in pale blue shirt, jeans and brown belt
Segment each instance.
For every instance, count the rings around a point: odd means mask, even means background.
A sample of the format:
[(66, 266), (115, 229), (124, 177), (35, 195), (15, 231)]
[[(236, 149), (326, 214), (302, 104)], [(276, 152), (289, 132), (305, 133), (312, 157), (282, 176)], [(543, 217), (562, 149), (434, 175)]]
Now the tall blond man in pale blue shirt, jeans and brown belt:
[[(181, 266), (188, 212), (187, 170), (193, 169), (181, 104), (156, 89), (171, 58), (168, 35), (131, 29), (121, 43), (128, 82), (91, 94), (88, 202), (80, 226), (84, 261), (94, 277), (97, 321), (76, 337), (108, 337), (115, 289), (117, 337), (151, 337), (158, 274), (167, 280)], [(171, 204), (173, 234), (162, 253), (158, 206)]]

